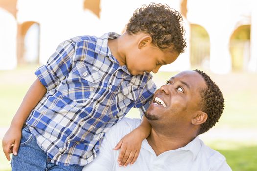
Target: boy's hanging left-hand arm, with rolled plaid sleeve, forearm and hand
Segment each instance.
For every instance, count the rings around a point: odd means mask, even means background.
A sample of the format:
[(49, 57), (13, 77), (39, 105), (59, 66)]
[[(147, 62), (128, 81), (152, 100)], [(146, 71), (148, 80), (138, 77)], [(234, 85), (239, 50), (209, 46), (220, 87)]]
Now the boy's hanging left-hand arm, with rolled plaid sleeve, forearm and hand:
[(35, 72), (38, 79), (25, 95), (10, 128), (3, 138), (3, 150), (8, 160), (10, 160), (10, 153), (17, 154), (21, 129), (31, 110), (36, 107), (47, 91), (55, 88), (60, 80), (63, 80), (69, 74), (75, 61), (76, 47), (76, 42), (72, 39), (63, 41), (48, 59), (47, 64), (41, 66)]

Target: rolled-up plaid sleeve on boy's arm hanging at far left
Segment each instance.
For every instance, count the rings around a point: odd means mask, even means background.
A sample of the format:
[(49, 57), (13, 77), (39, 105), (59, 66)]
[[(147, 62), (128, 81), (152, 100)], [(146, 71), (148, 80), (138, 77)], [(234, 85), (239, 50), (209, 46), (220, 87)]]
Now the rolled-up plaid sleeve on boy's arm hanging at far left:
[(56, 87), (58, 82), (63, 80), (70, 72), (75, 46), (76, 43), (71, 39), (60, 43), (56, 51), (48, 59), (47, 64), (41, 66), (35, 72), (47, 91)]

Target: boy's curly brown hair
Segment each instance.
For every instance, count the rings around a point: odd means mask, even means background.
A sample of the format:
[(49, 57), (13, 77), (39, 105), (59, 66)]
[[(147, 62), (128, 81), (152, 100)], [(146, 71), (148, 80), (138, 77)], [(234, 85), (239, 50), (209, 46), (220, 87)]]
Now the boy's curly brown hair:
[(161, 50), (168, 49), (178, 53), (186, 47), (183, 38), (185, 30), (180, 22), (181, 14), (168, 5), (151, 3), (137, 9), (129, 23), (126, 32), (136, 34), (143, 32), (152, 37), (152, 43)]

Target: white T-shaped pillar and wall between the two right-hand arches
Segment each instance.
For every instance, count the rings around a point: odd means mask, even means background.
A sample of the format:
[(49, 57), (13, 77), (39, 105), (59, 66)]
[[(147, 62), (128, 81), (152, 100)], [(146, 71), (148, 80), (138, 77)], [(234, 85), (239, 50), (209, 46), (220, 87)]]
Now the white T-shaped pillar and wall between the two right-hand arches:
[[(229, 41), (234, 30), (250, 24), (255, 0), (188, 0), (188, 21), (203, 26), (210, 36), (210, 69), (225, 74), (231, 71)], [(251, 32), (256, 32), (257, 29)]]

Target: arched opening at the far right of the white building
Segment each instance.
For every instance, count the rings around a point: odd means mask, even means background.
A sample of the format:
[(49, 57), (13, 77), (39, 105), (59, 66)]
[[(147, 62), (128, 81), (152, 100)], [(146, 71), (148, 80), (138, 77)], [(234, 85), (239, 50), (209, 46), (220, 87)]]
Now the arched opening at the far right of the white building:
[(230, 54), (233, 71), (247, 69), (250, 58), (250, 25), (241, 25), (230, 37)]

